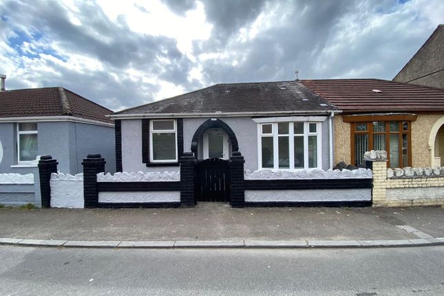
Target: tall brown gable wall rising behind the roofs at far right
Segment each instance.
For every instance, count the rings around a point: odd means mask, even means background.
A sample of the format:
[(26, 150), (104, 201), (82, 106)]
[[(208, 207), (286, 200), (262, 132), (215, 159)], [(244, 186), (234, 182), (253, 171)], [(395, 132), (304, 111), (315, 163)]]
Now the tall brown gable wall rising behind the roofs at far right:
[(444, 89), (444, 25), (438, 25), (393, 81)]

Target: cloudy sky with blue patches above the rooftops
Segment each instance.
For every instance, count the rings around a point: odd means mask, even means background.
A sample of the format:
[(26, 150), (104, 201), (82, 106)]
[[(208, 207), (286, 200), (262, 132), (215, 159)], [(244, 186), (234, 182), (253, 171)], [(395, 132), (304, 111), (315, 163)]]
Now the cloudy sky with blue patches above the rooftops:
[(0, 0), (0, 73), (115, 111), (295, 70), (392, 79), (443, 16), (443, 0)]

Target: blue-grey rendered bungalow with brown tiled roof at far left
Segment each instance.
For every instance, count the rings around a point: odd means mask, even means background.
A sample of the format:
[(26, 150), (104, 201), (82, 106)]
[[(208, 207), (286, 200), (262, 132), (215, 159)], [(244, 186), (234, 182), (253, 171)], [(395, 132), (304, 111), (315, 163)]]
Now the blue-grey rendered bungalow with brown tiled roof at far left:
[[(4, 85), (4, 76), (3, 76)], [(63, 87), (0, 91), (0, 173), (32, 173), (37, 156), (51, 155), (64, 173), (81, 173), (87, 154), (115, 171), (112, 111)]]

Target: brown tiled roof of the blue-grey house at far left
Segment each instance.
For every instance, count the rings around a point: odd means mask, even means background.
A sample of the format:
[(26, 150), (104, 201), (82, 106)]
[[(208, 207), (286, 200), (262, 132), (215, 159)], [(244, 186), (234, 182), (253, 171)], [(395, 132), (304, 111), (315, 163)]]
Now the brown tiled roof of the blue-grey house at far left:
[(112, 123), (112, 111), (63, 87), (12, 89), (0, 92), (0, 118), (74, 116)]

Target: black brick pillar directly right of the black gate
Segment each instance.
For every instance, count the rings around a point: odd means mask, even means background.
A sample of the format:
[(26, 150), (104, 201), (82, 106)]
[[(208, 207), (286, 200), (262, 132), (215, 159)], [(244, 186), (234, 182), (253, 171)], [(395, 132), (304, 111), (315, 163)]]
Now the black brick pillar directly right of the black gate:
[(230, 158), (231, 207), (243, 208), (245, 203), (244, 156), (233, 151)]

